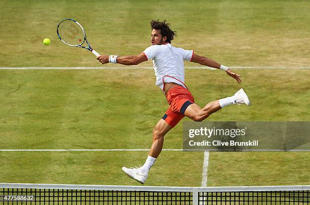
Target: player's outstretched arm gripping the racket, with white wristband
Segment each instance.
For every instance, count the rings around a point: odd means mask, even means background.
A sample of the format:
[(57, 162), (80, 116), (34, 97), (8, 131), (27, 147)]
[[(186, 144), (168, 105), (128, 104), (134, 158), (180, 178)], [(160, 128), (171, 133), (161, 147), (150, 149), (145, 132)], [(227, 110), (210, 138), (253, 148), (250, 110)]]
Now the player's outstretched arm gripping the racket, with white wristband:
[(139, 55), (125, 55), (125, 56), (116, 56), (116, 55), (101, 55), (97, 59), (102, 63), (120, 63), (123, 65), (137, 65), (141, 62), (147, 61), (147, 58), (143, 53)]

